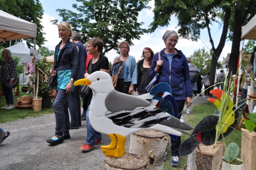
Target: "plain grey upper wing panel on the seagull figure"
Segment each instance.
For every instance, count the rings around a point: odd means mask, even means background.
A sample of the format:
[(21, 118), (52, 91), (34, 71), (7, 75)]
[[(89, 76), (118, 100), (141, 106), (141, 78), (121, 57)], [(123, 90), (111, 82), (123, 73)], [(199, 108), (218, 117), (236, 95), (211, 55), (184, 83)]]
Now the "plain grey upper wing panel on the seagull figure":
[(147, 107), (150, 102), (135, 96), (112, 91), (105, 99), (105, 106), (110, 112), (132, 111), (138, 107)]

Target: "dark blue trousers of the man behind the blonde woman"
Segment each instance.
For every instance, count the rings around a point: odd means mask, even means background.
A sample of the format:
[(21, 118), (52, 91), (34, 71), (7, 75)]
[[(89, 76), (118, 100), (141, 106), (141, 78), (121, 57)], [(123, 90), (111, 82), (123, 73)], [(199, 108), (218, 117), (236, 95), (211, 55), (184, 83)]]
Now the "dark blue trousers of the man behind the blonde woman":
[(79, 96), (80, 86), (75, 86), (75, 90), (70, 92), (68, 97), (68, 107), (70, 110), (70, 125), (81, 126), (81, 102)]

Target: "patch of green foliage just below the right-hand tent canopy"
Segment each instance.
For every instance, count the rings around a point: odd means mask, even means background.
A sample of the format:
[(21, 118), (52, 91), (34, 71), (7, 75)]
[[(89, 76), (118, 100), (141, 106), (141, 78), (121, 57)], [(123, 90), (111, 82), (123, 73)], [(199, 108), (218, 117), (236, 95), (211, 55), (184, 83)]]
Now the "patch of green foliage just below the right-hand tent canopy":
[(256, 41), (249, 40), (243, 48), (241, 66), (243, 69), (246, 69), (246, 66), (250, 64), (250, 57), (252, 56), (253, 50), (255, 48)]

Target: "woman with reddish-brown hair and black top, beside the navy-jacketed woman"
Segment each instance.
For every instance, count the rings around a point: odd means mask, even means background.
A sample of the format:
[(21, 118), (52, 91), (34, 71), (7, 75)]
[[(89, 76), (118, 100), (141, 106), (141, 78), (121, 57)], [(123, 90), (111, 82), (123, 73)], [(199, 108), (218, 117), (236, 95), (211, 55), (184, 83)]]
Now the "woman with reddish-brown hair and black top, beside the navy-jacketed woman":
[(151, 78), (149, 77), (149, 71), (152, 59), (154, 57), (154, 52), (146, 47), (143, 50), (142, 53), (142, 60), (138, 63), (138, 79), (137, 79), (137, 85), (134, 88), (134, 91), (138, 91), (139, 95), (148, 93), (145, 88), (151, 81)]

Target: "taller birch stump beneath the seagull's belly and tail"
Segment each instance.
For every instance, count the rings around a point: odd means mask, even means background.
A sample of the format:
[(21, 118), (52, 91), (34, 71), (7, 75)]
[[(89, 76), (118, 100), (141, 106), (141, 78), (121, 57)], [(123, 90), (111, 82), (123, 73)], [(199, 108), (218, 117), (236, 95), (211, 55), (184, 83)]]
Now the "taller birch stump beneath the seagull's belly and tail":
[(167, 146), (166, 133), (151, 129), (140, 130), (131, 134), (129, 152), (147, 157), (147, 170), (162, 170), (164, 152)]

